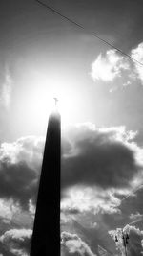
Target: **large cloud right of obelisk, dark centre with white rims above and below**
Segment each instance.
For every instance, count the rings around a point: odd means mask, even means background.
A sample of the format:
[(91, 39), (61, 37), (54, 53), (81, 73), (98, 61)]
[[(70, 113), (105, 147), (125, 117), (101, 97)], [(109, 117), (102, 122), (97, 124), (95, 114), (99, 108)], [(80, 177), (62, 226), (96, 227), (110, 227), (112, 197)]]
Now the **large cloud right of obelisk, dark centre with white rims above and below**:
[(71, 146), (62, 154), (63, 211), (120, 212), (120, 198), (143, 180), (142, 149), (133, 142), (135, 136), (125, 127), (89, 123), (65, 131)]

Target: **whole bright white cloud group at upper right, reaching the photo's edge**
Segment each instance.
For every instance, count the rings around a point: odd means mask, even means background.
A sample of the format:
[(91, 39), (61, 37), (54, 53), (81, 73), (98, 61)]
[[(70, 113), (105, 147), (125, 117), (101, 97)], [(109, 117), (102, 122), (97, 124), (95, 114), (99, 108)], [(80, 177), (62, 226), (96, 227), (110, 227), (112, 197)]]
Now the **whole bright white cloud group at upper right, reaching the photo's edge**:
[(143, 63), (143, 42), (133, 48), (129, 55), (133, 59), (124, 57), (117, 50), (109, 50), (104, 55), (100, 53), (92, 62), (93, 81), (112, 82), (119, 78), (120, 80), (110, 88), (110, 92), (116, 91), (120, 85), (125, 89), (136, 81), (141, 81), (143, 84), (143, 65), (137, 63), (137, 61)]

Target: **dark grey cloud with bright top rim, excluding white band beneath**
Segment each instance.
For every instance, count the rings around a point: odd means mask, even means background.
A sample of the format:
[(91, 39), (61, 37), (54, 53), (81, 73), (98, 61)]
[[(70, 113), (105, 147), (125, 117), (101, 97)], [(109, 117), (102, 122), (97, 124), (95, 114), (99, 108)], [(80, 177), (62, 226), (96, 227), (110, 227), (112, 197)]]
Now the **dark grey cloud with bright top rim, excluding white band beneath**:
[(126, 188), (140, 170), (133, 149), (118, 140), (118, 131), (74, 128), (72, 153), (62, 160), (62, 187), (97, 185)]

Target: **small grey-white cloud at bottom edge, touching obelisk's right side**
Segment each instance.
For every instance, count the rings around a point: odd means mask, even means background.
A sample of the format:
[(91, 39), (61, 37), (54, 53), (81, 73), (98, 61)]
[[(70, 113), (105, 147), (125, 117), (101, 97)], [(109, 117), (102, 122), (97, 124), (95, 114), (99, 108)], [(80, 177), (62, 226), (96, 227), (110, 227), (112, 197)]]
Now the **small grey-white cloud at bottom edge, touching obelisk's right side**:
[(65, 256), (96, 256), (89, 245), (83, 242), (76, 234), (62, 232), (61, 245), (62, 255)]

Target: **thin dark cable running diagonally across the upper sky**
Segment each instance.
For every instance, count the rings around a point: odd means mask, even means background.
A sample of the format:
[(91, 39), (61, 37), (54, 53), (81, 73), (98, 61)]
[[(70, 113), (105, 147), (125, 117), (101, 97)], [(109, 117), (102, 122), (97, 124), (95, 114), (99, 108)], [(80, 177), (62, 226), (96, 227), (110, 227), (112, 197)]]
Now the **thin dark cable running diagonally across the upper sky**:
[(108, 46), (112, 47), (113, 49), (115, 49), (116, 51), (118, 51), (119, 53), (121, 53), (122, 55), (131, 58), (133, 61), (135, 61), (137, 64), (143, 66), (143, 63), (141, 63), (140, 61), (138, 61), (137, 59), (131, 57), (130, 55), (126, 54), (125, 52), (123, 52), (121, 49), (115, 47), (110, 41), (107, 41), (105, 39), (103, 39), (102, 37), (100, 37), (99, 35), (97, 35), (96, 33), (89, 31), (88, 29), (86, 29), (83, 25), (77, 23), (76, 21), (74, 21), (73, 19), (69, 18), (68, 16), (62, 14), (61, 12), (55, 10), (53, 7), (49, 6), (48, 4), (45, 4), (39, 0), (35, 0), (35, 2), (39, 3), (41, 6), (49, 9), (51, 12), (54, 12), (55, 14), (59, 15), (60, 17), (62, 17), (63, 19), (68, 20), (69, 22), (71, 22), (73, 25), (77, 26), (78, 28), (86, 31), (88, 34), (93, 35), (94, 37), (98, 38), (100, 41), (102, 41), (103, 43), (107, 44)]

